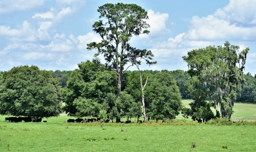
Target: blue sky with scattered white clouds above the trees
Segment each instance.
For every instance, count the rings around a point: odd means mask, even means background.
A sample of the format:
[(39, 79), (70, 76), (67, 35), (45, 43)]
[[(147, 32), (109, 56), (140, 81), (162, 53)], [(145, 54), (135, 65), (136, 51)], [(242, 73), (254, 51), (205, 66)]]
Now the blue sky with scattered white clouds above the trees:
[(250, 49), (245, 73), (256, 74), (256, 0), (0, 0), (0, 71), (25, 65), (77, 69), (96, 53), (86, 48), (100, 40), (92, 30), (98, 7), (119, 2), (148, 13), (150, 34), (132, 37), (130, 43), (151, 50), (157, 64), (142, 64), (141, 70), (188, 70), (182, 59), (188, 51), (228, 40), (240, 51)]

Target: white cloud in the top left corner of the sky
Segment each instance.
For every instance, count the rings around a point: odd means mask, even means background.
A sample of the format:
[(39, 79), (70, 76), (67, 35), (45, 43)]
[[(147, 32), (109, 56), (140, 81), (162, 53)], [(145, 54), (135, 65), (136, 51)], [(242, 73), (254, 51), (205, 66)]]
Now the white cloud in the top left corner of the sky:
[(33, 7), (41, 6), (45, 0), (2, 0), (0, 1), (0, 13), (28, 10)]

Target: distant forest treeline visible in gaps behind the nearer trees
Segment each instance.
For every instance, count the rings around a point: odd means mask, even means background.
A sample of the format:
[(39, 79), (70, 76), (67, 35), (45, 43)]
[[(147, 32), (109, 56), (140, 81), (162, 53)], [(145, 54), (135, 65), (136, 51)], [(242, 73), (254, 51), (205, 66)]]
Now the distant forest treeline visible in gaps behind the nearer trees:
[[(145, 71), (142, 71), (142, 73), (143, 72)], [(160, 71), (148, 71), (148, 72), (154, 74)], [(189, 93), (185, 89), (185, 85), (190, 79), (190, 76), (188, 75), (187, 71), (175, 70), (175, 71), (168, 71), (168, 72), (176, 80), (182, 99), (191, 99), (191, 97), (189, 96)], [(71, 73), (72, 71), (59, 71), (59, 70), (51, 71), (52, 76), (59, 81), (59, 84), (62, 88), (66, 87), (67, 80), (69, 79)], [(132, 73), (132, 71), (126, 71), (125, 72), (126, 78), (124, 79), (127, 79), (127, 76), (130, 73)], [(244, 74), (243, 77), (245, 79), (245, 82), (242, 84), (242, 90), (238, 92), (237, 102), (256, 103), (256, 75), (254, 75), (253, 77), (250, 73), (247, 73), (247, 74)], [(124, 80), (124, 83), (125, 83), (125, 80)], [(212, 100), (212, 99), (209, 98), (209, 100)]]

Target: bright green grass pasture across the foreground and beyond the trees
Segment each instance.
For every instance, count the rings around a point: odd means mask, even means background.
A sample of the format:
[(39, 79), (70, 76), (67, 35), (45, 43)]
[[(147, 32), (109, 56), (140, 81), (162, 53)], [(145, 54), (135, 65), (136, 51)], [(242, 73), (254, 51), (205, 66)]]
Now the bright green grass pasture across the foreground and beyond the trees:
[[(235, 103), (236, 108), (233, 118), (255, 119), (254, 104)], [(210, 125), (175, 120), (100, 127), (99, 122), (67, 123), (68, 116), (44, 118), (47, 123), (11, 123), (5, 117), (0, 116), (0, 151), (256, 151), (256, 123)]]

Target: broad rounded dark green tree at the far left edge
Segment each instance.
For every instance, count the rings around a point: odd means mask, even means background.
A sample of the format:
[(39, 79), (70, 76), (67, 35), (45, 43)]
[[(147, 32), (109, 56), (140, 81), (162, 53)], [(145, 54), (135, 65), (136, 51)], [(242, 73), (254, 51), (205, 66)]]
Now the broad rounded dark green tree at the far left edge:
[(61, 91), (50, 72), (36, 66), (14, 67), (3, 73), (0, 114), (50, 117), (61, 112)]

